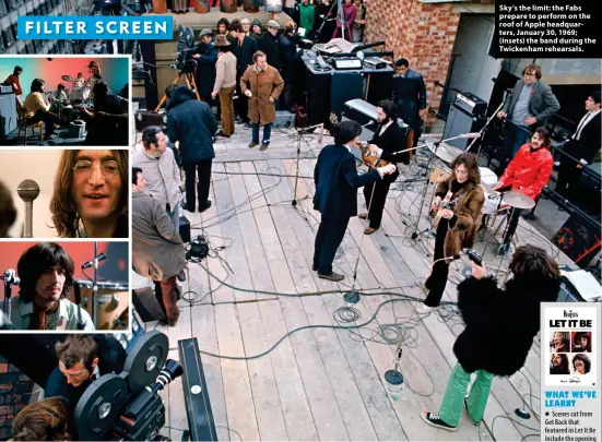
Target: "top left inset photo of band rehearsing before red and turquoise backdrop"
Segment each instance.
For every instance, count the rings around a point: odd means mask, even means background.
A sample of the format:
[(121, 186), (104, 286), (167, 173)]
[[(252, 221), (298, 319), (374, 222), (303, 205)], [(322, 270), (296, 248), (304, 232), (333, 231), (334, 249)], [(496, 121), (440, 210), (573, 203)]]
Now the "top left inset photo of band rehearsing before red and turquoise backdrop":
[(0, 145), (129, 145), (126, 56), (0, 56)]

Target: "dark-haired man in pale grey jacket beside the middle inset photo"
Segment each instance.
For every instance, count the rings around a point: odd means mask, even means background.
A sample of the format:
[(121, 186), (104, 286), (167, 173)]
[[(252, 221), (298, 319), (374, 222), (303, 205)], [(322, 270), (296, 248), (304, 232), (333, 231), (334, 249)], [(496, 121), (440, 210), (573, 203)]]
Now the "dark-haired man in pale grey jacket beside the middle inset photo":
[(167, 148), (167, 138), (158, 126), (144, 129), (142, 147), (134, 152), (132, 166), (142, 169), (146, 193), (165, 207), (174, 226), (179, 228), (180, 170), (174, 151)]

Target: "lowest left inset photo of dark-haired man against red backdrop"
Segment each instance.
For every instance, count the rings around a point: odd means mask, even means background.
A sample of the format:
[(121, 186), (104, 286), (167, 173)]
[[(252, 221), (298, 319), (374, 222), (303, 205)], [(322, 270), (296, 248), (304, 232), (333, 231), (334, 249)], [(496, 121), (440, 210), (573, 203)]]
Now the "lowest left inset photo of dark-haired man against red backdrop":
[(128, 242), (3, 242), (9, 331), (130, 330)]

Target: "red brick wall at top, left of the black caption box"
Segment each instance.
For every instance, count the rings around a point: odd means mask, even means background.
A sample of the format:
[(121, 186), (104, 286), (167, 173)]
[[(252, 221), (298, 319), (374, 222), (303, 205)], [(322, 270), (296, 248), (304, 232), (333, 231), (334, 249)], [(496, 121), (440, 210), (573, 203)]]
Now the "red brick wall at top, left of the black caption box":
[[(484, 0), (483, 3), (493, 2)], [(387, 50), (410, 60), (410, 68), (422, 73), (426, 83), (427, 107), (439, 108), (444, 83), (451, 60), (460, 13), (453, 3), (422, 3), (420, 0), (368, 0), (366, 43), (385, 40)], [(380, 49), (380, 48), (377, 48)], [(427, 117), (426, 126), (435, 123)]]

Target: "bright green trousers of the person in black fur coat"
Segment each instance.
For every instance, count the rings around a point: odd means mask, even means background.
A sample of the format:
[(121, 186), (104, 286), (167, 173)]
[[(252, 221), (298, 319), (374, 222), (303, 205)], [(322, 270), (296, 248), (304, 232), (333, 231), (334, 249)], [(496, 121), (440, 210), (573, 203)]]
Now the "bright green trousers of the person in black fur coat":
[[(485, 406), (489, 397), (494, 375), (485, 370), (476, 370), (476, 380), (472, 384), (468, 399), (469, 415), (474, 422), (480, 422), (485, 414)], [(470, 373), (467, 373), (458, 362), (447, 384), (446, 395), (439, 408), (439, 418), (449, 426), (458, 427), (464, 406), (464, 396), (470, 383)]]

